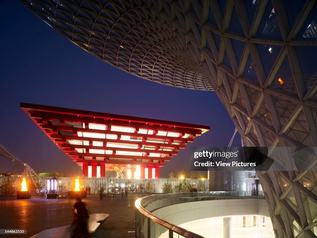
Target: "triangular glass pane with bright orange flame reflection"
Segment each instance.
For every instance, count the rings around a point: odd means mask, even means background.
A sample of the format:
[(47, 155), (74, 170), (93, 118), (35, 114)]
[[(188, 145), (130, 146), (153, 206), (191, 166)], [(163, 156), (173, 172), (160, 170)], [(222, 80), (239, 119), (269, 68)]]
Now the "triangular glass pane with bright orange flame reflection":
[(286, 94), (294, 94), (298, 96), (287, 56), (284, 58), (270, 87), (281, 90), (281, 93), (286, 92)]

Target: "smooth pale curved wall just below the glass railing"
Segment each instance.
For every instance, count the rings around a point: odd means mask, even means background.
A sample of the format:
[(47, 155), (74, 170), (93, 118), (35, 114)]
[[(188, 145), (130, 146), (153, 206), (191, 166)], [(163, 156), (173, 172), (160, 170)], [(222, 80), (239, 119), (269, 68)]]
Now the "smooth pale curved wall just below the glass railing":
[(266, 201), (262, 199), (230, 199), (181, 203), (157, 209), (152, 214), (175, 225), (217, 216), (262, 215), (270, 217)]

